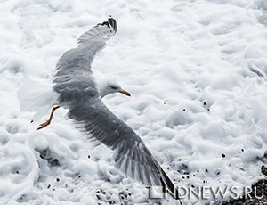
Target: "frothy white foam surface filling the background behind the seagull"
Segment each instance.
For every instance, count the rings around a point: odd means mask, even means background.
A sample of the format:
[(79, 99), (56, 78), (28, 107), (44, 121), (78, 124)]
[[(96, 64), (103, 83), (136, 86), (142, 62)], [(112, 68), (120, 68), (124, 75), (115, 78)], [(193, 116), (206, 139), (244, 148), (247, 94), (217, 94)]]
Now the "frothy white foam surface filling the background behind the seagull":
[[(1, 205), (157, 202), (113, 167), (108, 148), (79, 135), (67, 111), (40, 131), (29, 123), (34, 112), (20, 111), (18, 95), (36, 102), (32, 92), (50, 89), (61, 54), (110, 14), (117, 35), (93, 69), (117, 78), (132, 98), (112, 94), (104, 102), (141, 135), (174, 184), (241, 191), (263, 177), (265, 0), (2, 0), (0, 11)], [(17, 94), (28, 80), (36, 83)]]

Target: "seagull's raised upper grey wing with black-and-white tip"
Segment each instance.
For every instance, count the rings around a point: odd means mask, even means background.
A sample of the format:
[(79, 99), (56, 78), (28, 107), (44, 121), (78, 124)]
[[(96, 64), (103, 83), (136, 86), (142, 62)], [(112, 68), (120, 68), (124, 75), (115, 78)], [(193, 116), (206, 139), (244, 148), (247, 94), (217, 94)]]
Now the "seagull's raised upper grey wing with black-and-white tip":
[(78, 38), (79, 45), (64, 53), (56, 65), (53, 89), (60, 94), (60, 102), (75, 99), (80, 92), (98, 95), (91, 64), (96, 53), (101, 51), (117, 30), (115, 19), (109, 18), (97, 24)]

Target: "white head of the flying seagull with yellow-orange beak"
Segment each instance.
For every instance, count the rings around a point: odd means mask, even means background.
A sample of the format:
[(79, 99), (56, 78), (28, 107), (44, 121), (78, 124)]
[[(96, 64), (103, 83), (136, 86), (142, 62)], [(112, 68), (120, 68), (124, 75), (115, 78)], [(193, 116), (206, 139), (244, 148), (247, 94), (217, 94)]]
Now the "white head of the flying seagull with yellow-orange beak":
[(121, 93), (127, 96), (131, 96), (131, 94), (127, 92), (125, 89), (123, 89), (117, 83), (117, 80), (112, 77), (101, 78), (101, 80), (98, 82), (98, 86), (101, 97), (104, 97), (107, 94), (115, 94), (115, 93)]

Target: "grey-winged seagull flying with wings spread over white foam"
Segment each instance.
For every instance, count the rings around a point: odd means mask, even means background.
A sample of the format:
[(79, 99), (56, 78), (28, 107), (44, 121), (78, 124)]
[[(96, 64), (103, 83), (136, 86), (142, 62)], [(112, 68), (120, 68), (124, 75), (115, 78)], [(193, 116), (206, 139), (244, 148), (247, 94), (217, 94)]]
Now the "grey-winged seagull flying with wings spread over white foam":
[[(68, 109), (69, 119), (76, 123), (81, 132), (114, 151), (115, 166), (125, 175), (144, 185), (163, 186), (175, 193), (177, 189), (174, 184), (141, 137), (109, 111), (101, 100), (104, 95), (117, 92), (130, 95), (109, 81), (100, 89), (91, 68), (96, 53), (107, 45), (116, 32), (117, 21), (110, 17), (79, 37), (76, 48), (63, 53), (53, 79), (53, 91), (59, 102), (53, 111), (59, 107)], [(41, 125), (41, 128), (45, 126)]]

